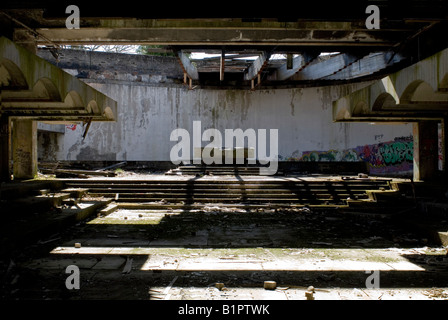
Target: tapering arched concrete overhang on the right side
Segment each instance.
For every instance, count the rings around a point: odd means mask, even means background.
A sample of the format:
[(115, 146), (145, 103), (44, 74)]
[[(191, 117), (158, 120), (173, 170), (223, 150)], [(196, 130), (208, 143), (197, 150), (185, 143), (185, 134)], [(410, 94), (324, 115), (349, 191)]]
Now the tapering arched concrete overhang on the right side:
[(334, 101), (333, 119), (441, 119), (448, 114), (446, 79), (448, 49)]

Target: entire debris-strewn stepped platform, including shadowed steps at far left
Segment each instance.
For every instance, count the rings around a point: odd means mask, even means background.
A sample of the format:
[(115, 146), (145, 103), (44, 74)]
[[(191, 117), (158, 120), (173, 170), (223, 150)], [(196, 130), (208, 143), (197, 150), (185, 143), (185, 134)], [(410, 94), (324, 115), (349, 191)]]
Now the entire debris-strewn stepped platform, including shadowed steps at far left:
[[(38, 239), (117, 209), (335, 209), (358, 216), (393, 216), (415, 208), (391, 179), (260, 176), (153, 176), (149, 179), (57, 179), (2, 187), (4, 242)], [(193, 212), (193, 211), (192, 211)], [(20, 232), (18, 232), (20, 230)], [(20, 234), (20, 236), (16, 236)], [(15, 241), (15, 240), (14, 240)]]

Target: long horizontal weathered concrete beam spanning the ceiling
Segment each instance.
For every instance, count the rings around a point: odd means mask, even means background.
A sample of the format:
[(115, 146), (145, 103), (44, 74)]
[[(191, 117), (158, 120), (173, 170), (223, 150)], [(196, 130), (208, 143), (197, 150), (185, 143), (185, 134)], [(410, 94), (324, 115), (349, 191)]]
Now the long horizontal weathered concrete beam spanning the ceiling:
[[(26, 29), (16, 29), (15, 38), (26, 39)], [(347, 30), (340, 32), (303, 29), (259, 28), (41, 28), (36, 32), (44, 38), (36, 39), (37, 45), (48, 44), (153, 44), (153, 45), (292, 45), (292, 46), (381, 46), (390, 47), (402, 39), (401, 32), (385, 32), (380, 35)], [(354, 41), (357, 39), (357, 41)]]

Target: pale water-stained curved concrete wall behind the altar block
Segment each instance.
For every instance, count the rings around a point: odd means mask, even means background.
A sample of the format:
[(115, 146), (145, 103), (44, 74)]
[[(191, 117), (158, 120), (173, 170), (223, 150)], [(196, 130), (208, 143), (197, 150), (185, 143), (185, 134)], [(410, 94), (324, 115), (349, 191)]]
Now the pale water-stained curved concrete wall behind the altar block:
[[(128, 60), (131, 63), (132, 57)], [(105, 72), (98, 69), (95, 74)], [(172, 73), (173, 79), (176, 72)], [(278, 129), (280, 160), (309, 160), (304, 156), (312, 151), (332, 151), (335, 157), (320, 161), (344, 161), (347, 150), (356, 153), (362, 146), (391, 143), (397, 138), (409, 140), (412, 136), (411, 124), (333, 122), (332, 102), (370, 83), (253, 92), (188, 90), (175, 81), (141, 81), (138, 74), (133, 79), (120, 75), (115, 72), (112, 79), (84, 79), (118, 102), (118, 121), (92, 123), (85, 140), (82, 124), (67, 126), (63, 149), (58, 153), (64, 156), (58, 160), (169, 161), (170, 150), (176, 144), (170, 141), (171, 132), (184, 128), (192, 133), (195, 120), (201, 121), (202, 131), (216, 128), (223, 137), (225, 129)], [(203, 142), (205, 145), (207, 142)], [(365, 159), (358, 154), (349, 160)]]

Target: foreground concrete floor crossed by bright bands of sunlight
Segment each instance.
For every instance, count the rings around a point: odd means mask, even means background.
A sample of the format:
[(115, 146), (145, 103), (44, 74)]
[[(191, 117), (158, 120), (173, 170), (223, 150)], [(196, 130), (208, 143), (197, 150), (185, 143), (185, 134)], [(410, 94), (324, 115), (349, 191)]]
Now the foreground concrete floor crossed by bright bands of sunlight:
[[(4, 264), (2, 299), (305, 300), (314, 286), (316, 300), (448, 300), (446, 248), (334, 210), (120, 209)], [(65, 285), (70, 265), (80, 289)], [(379, 288), (367, 288), (370, 271)]]

